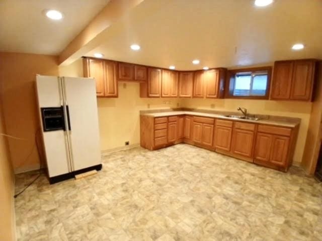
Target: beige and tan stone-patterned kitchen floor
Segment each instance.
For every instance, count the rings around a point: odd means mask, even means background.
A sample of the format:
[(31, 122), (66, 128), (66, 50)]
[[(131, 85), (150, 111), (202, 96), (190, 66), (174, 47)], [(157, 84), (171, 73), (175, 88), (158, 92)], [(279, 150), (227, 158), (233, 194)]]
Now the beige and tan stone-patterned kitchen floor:
[[(17, 175), (17, 191), (36, 174)], [(180, 144), (104, 158), (99, 174), (16, 199), (18, 240), (322, 240), (322, 186)]]

